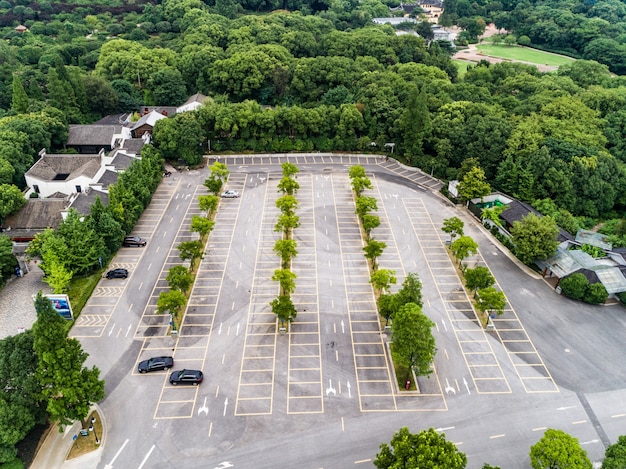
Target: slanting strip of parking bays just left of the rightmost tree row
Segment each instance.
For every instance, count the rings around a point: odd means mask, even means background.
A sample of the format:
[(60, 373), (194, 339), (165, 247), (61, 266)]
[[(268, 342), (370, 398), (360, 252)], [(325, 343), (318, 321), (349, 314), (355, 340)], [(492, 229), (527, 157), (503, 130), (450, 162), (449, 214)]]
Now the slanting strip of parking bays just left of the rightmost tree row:
[(439, 227), (432, 222), (420, 199), (406, 199), (403, 203), (476, 391), (479, 394), (510, 393), (511, 388), (489, 338), (478, 323), (471, 301), (446, 252)]

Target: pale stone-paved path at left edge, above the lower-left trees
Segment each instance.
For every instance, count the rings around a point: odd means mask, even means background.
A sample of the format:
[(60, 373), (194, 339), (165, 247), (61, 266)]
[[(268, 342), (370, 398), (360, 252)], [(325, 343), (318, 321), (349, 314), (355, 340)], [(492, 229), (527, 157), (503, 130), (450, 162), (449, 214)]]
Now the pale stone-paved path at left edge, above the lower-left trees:
[(37, 319), (33, 295), (39, 290), (52, 293), (42, 280), (43, 271), (39, 266), (31, 261), (28, 268), (28, 274), (11, 278), (0, 290), (0, 339), (30, 329)]

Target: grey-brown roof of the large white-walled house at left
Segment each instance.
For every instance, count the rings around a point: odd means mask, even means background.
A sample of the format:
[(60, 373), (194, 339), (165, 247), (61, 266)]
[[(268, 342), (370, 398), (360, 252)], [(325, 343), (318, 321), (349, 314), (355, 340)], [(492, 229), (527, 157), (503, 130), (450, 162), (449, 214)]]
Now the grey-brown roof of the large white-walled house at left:
[(45, 155), (26, 175), (42, 181), (52, 181), (58, 174), (67, 174), (65, 180), (78, 176), (93, 178), (100, 169), (100, 155)]

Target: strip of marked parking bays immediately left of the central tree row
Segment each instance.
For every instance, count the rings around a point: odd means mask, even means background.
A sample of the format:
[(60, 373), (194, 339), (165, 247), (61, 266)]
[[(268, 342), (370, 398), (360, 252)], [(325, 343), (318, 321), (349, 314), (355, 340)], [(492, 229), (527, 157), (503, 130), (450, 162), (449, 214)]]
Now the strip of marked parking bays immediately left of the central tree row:
[(276, 184), (280, 173), (267, 175), (264, 182), (264, 209), (255, 224), (258, 228), (250, 304), (245, 325), (245, 338), (235, 415), (264, 415), (273, 410), (274, 369), (276, 356), (276, 315), (269, 305), (278, 296), (278, 284), (272, 280), (280, 259), (274, 243), (280, 233), (274, 232), (278, 216)]

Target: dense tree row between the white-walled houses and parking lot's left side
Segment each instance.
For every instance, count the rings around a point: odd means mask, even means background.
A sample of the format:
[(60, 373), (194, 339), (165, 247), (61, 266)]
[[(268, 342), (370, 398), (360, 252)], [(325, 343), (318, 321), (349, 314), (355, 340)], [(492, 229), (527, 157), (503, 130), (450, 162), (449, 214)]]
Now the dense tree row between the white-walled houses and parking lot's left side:
[(141, 155), (109, 188), (107, 206), (96, 197), (87, 216), (70, 209), (56, 230), (46, 229), (29, 244), (27, 253), (41, 259), (45, 281), (55, 293), (65, 292), (74, 276), (106, 265), (150, 203), (163, 160), (152, 146)]

